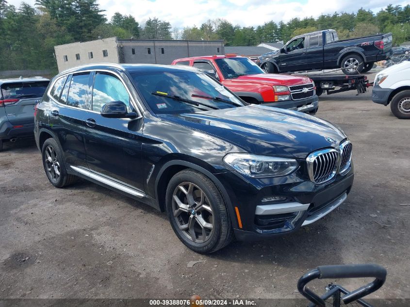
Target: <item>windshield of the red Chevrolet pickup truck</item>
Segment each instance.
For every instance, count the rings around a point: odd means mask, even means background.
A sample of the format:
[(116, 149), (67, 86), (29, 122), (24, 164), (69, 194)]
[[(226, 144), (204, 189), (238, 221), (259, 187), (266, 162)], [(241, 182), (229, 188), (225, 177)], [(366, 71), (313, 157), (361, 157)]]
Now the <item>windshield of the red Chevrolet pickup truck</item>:
[(239, 76), (264, 74), (264, 71), (248, 58), (223, 58), (216, 59), (225, 79), (232, 79)]

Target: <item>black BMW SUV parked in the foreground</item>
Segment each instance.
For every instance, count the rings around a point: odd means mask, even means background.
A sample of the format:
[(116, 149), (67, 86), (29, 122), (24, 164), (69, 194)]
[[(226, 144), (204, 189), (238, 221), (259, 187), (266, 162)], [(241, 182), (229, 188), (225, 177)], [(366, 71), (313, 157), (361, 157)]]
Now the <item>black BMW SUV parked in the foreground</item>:
[(353, 184), (341, 129), (247, 105), (187, 66), (63, 71), (35, 108), (34, 133), (55, 187), (81, 177), (166, 211), (199, 253), (311, 224)]

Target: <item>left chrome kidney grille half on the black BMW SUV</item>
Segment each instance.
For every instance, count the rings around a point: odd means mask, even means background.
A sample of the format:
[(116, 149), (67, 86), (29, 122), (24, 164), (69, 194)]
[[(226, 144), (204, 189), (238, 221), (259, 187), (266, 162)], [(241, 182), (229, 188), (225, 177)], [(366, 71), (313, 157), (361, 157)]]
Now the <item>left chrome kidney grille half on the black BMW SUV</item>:
[(311, 181), (319, 185), (325, 184), (337, 173), (340, 153), (336, 149), (323, 149), (311, 153), (306, 161)]

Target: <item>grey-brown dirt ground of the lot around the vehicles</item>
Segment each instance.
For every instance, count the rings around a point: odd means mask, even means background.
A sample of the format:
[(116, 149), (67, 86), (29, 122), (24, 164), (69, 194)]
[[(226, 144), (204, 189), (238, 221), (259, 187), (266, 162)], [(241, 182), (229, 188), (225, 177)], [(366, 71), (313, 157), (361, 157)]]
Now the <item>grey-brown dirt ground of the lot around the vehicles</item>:
[[(87, 181), (56, 189), (33, 140), (7, 143), (0, 298), (300, 298), (296, 281), (308, 270), (364, 262), (388, 270), (372, 297), (410, 298), (410, 121), (370, 97), (320, 97), (317, 116), (341, 126), (354, 148), (354, 186), (338, 210), (295, 234), (207, 256), (187, 249), (164, 213)], [(193, 260), (205, 262), (188, 268)], [(364, 281), (340, 282), (352, 290)]]

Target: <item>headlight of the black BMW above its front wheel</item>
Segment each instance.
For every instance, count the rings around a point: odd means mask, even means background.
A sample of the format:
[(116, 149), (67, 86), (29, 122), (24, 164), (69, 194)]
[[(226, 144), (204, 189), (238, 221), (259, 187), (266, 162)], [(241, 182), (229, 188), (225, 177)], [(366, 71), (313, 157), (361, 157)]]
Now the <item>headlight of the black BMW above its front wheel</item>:
[(246, 153), (229, 153), (223, 160), (239, 173), (258, 178), (286, 176), (294, 172), (299, 166), (295, 159)]

